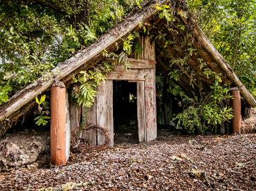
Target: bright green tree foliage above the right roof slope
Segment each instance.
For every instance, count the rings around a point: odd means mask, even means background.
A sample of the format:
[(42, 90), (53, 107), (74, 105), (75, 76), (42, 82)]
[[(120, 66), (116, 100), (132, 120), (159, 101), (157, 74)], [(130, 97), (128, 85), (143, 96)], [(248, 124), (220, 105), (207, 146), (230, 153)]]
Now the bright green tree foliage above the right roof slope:
[(206, 36), (250, 92), (255, 92), (254, 0), (187, 0)]

